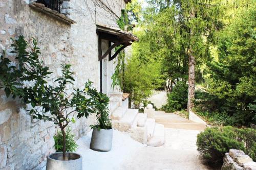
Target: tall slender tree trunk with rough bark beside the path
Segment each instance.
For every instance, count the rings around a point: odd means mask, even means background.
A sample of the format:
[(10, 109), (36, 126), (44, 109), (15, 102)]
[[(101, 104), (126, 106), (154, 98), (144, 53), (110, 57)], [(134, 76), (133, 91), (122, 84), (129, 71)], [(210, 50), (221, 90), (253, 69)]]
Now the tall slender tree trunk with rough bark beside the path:
[[(195, 18), (195, 9), (191, 8), (190, 13), (191, 19)], [(194, 39), (193, 28), (190, 28), (190, 39)], [(188, 50), (188, 94), (187, 94), (187, 111), (194, 107), (194, 99), (195, 99), (195, 66), (196, 60), (193, 54), (192, 45), (194, 42), (190, 42), (189, 50)]]

